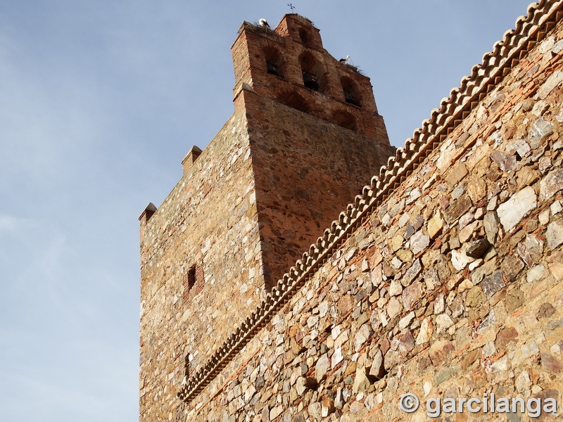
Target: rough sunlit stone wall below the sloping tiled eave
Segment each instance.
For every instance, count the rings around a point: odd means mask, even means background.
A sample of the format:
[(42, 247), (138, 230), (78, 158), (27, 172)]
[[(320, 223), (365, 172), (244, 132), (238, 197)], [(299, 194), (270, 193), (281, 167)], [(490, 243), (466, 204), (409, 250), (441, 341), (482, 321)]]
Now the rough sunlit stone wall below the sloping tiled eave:
[(559, 23), (177, 420), (428, 420), (405, 392), (561, 411), (562, 54)]

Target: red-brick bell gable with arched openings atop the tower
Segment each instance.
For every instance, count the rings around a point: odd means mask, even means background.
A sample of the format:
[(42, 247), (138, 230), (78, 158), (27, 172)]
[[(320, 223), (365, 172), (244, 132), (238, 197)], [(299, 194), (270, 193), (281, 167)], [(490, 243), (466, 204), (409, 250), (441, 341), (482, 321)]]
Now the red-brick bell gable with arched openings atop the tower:
[(260, 96), (389, 146), (369, 78), (335, 60), (307, 18), (285, 15), (275, 30), (245, 22), (232, 53), (235, 96), (246, 83)]

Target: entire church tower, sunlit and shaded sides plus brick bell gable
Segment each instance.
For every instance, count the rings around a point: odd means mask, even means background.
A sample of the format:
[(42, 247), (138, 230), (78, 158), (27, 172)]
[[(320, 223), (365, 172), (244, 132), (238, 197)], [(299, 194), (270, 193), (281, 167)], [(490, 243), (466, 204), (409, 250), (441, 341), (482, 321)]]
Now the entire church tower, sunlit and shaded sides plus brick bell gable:
[(310, 20), (243, 23), (232, 54), (234, 114), (139, 217), (141, 421), (175, 417), (184, 378), (394, 153), (369, 78)]

